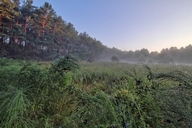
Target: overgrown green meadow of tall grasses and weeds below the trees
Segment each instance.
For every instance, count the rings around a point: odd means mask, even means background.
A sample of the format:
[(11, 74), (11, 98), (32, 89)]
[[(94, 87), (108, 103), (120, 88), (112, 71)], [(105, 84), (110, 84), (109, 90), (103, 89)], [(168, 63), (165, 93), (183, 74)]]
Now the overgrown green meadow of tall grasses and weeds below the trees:
[(0, 127), (191, 128), (192, 67), (0, 59)]

